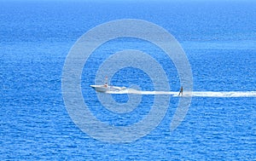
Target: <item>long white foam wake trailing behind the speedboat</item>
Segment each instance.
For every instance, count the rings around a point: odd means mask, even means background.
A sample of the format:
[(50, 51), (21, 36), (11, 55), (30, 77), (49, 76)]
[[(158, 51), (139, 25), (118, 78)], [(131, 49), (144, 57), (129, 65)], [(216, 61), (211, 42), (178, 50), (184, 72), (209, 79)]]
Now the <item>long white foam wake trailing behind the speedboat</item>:
[[(172, 91), (140, 91), (136, 89), (125, 89), (120, 91), (108, 91), (108, 94), (134, 94), (134, 95), (172, 95), (177, 97), (179, 92)], [(183, 92), (182, 96), (192, 97), (256, 97), (256, 91), (193, 91)]]

